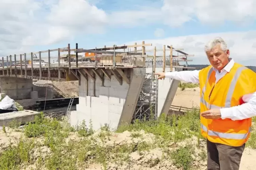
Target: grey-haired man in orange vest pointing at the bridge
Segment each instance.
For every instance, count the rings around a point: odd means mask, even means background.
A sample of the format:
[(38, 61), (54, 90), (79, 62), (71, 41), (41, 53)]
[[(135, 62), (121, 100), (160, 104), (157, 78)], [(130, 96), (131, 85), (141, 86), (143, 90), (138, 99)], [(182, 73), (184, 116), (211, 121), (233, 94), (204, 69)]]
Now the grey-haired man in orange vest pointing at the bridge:
[(205, 45), (210, 66), (201, 70), (159, 72), (200, 83), (201, 133), (207, 138), (207, 169), (238, 170), (251, 118), (256, 115), (256, 73), (229, 58), (225, 41), (217, 37)]

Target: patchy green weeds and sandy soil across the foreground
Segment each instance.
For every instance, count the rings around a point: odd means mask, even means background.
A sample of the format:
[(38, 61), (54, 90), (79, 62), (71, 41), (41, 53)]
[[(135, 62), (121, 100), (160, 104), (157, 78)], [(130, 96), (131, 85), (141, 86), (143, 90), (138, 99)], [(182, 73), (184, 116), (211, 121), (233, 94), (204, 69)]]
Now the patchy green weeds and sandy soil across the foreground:
[[(12, 128), (17, 127), (15, 123)], [(2, 133), (8, 136), (6, 131), (4, 127)], [(119, 139), (118, 135), (125, 131), (130, 132), (129, 139), (113, 140)], [(15, 170), (33, 165), (31, 168), (34, 170), (77, 170), (89, 168), (92, 164), (100, 164), (103, 169), (110, 169), (112, 164), (116, 169), (130, 169), (137, 164), (144, 168), (176, 166), (191, 170), (198, 168), (193, 164), (195, 161), (202, 163), (207, 158), (205, 147), (202, 147), (204, 139), (196, 108), (183, 116), (163, 114), (157, 120), (122, 124), (115, 132), (108, 124), (96, 132), (91, 121), (88, 126), (82, 121), (80, 125), (71, 127), (65, 121), (48, 119), (41, 113), (34, 123), (22, 128), (22, 134), (18, 140), (1, 146), (0, 169)], [(251, 135), (248, 143), (255, 148), (256, 135)], [(193, 142), (192, 137), (197, 140)], [(161, 151), (158, 156), (152, 155), (153, 149)], [(137, 155), (137, 158), (132, 155)], [(162, 164), (164, 161), (169, 164)]]

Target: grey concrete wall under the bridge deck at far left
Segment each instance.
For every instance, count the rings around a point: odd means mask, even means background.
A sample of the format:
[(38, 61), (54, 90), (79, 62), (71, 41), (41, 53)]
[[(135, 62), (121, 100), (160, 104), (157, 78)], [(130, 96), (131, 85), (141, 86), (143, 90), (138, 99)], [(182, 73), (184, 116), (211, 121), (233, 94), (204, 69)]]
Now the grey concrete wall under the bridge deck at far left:
[(13, 100), (30, 99), (32, 80), (15, 77), (0, 78), (0, 93), (5, 93)]

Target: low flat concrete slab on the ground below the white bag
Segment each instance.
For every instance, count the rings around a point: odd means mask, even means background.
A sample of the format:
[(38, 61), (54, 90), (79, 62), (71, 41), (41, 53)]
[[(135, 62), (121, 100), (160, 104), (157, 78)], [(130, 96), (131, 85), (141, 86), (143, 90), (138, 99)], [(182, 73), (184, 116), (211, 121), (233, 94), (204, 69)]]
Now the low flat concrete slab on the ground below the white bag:
[(0, 114), (0, 126), (8, 126), (10, 122), (16, 120), (18, 123), (25, 124), (28, 122), (33, 122), (35, 116), (40, 114), (39, 112), (32, 110), (23, 110), (10, 113)]

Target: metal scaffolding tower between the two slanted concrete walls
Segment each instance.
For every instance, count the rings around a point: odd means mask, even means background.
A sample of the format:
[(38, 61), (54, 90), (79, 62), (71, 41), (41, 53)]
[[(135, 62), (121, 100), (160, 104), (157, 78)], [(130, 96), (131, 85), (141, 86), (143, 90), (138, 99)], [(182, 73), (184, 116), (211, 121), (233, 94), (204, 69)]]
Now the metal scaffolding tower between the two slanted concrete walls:
[(152, 73), (147, 73), (134, 111), (132, 122), (137, 120), (157, 119), (158, 80)]

